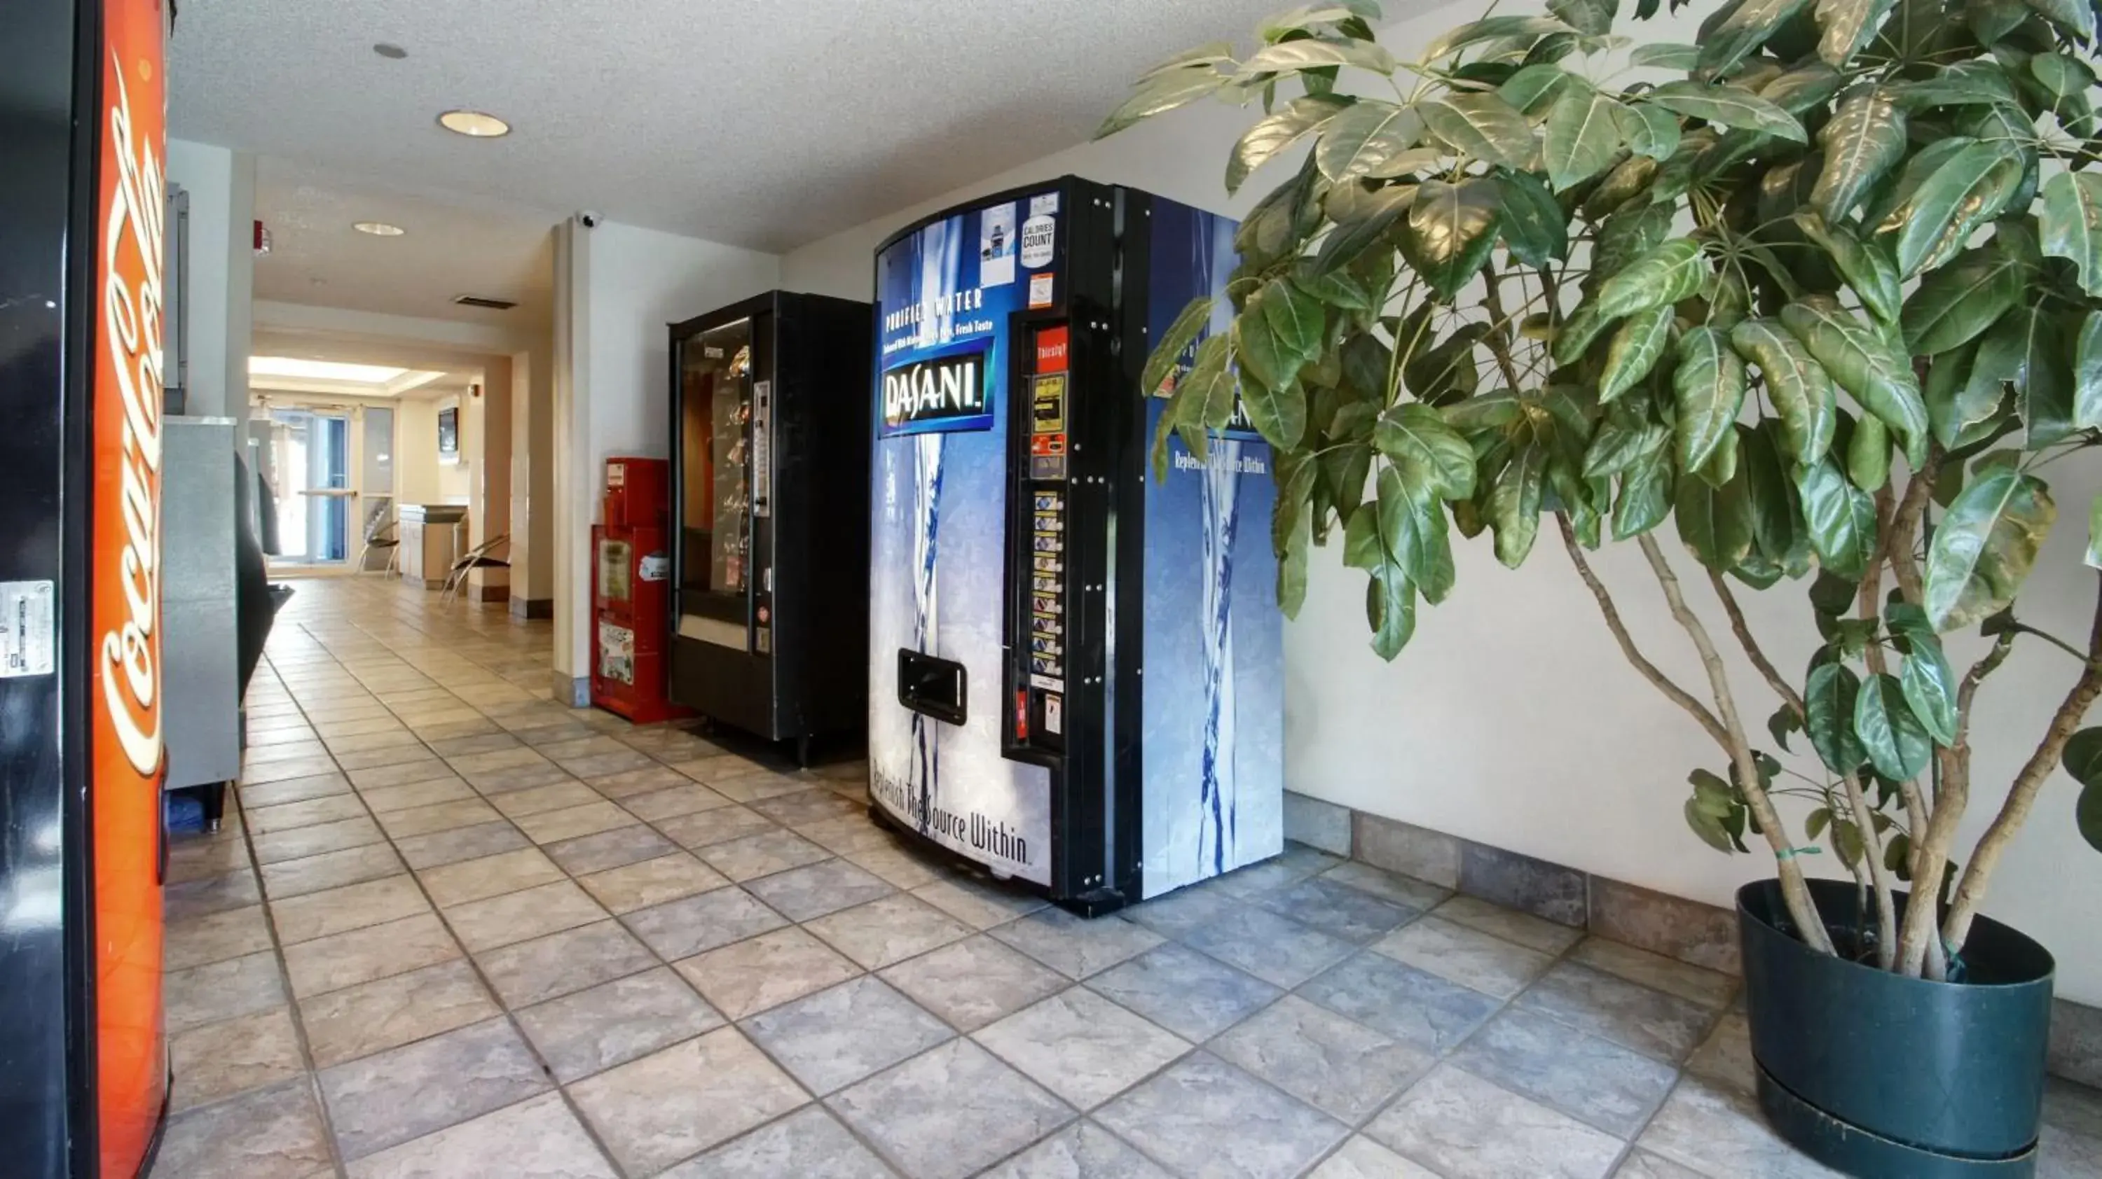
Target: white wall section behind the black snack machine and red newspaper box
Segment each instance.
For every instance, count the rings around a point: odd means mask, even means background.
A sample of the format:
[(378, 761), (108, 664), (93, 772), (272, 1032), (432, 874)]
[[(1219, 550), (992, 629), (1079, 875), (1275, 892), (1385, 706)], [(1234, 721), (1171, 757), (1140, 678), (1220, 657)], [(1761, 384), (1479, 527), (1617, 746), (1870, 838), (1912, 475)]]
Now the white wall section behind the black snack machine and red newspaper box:
[(605, 458), (671, 454), (664, 326), (778, 284), (774, 254), (605, 221), (557, 229), (557, 677), (591, 668), (591, 523)]

